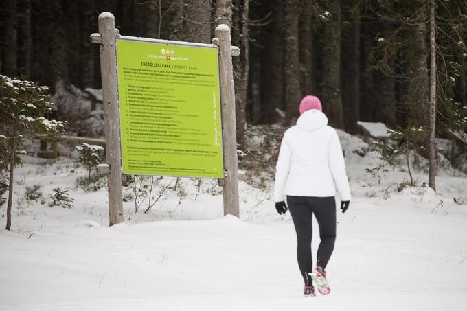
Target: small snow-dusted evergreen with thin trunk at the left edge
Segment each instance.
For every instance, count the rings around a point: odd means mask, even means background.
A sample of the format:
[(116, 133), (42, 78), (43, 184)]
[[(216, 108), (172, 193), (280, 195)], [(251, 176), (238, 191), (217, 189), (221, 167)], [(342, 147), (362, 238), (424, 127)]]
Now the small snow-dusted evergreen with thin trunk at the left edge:
[(8, 207), (6, 229), (11, 227), (14, 167), (21, 164), (23, 142), (35, 135), (54, 139), (64, 132), (60, 121), (45, 118), (52, 112), (49, 87), (0, 75), (0, 172), (8, 172)]

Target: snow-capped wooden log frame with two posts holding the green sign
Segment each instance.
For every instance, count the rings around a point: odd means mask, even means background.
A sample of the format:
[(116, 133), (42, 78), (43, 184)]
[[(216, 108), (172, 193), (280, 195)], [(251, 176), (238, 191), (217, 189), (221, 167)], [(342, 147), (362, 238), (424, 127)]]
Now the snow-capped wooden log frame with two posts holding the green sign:
[[(218, 47), (220, 115), (223, 137), (223, 204), (224, 214), (240, 216), (238, 198), (238, 162), (235, 120), (235, 93), (232, 56), (238, 56), (238, 47), (231, 47), (230, 28), (227, 25), (216, 27), (216, 37), (210, 48)], [(100, 165), (100, 172), (106, 172), (109, 192), (109, 224), (123, 221), (122, 201), (122, 142), (120, 137), (120, 112), (118, 103), (117, 81), (117, 47), (119, 42), (144, 41), (146, 43), (201, 45), (199, 43), (183, 43), (150, 38), (120, 36), (115, 30), (113, 14), (103, 12), (99, 15), (99, 33), (91, 34), (91, 42), (100, 44), (100, 64), (102, 76), (102, 101), (104, 104), (104, 124), (106, 140), (106, 161)], [(205, 45), (206, 46), (206, 45)], [(168, 58), (170, 59), (170, 58)], [(175, 175), (175, 174), (174, 174)]]

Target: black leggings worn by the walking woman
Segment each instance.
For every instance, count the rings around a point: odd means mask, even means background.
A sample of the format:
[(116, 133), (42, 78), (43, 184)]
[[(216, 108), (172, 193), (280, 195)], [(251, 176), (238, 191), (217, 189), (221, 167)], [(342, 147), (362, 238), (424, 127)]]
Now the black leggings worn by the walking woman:
[(336, 240), (336, 203), (334, 196), (319, 198), (317, 196), (287, 196), (288, 209), (291, 211), (295, 231), (297, 232), (297, 260), (301, 277), (305, 284), (310, 284), (308, 277), (312, 271), (311, 217), (315, 214), (319, 225), (321, 242), (318, 248), (317, 266), (326, 268), (334, 242)]

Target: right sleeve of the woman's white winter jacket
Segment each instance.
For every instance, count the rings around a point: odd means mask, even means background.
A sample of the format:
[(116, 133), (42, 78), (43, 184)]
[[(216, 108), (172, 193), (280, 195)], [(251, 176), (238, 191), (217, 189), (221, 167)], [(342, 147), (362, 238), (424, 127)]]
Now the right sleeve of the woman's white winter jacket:
[(345, 172), (345, 161), (342, 154), (341, 142), (335, 130), (330, 141), (328, 157), (332, 177), (337, 185), (337, 190), (339, 190), (341, 200), (348, 201), (351, 198), (349, 180)]

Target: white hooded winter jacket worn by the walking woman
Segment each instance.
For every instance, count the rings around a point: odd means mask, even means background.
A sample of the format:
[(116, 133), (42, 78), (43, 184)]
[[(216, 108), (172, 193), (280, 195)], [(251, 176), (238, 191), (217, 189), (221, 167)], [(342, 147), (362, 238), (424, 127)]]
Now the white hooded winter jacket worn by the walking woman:
[(350, 200), (345, 162), (336, 130), (319, 110), (305, 111), (286, 133), (275, 166), (275, 202), (288, 196), (334, 196)]

